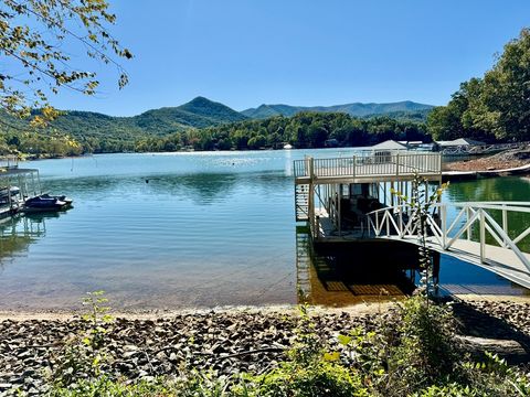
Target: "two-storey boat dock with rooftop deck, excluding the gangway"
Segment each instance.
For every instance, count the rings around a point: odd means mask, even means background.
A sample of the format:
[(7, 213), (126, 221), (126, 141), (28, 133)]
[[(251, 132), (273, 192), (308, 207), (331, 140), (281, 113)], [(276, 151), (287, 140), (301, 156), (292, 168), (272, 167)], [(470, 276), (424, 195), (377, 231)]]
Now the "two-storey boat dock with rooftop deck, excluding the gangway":
[(442, 155), (431, 152), (362, 152), (353, 157), (294, 162), (297, 222), (308, 222), (315, 243), (364, 238), (365, 214), (398, 205), (415, 175), (431, 189), (442, 184)]

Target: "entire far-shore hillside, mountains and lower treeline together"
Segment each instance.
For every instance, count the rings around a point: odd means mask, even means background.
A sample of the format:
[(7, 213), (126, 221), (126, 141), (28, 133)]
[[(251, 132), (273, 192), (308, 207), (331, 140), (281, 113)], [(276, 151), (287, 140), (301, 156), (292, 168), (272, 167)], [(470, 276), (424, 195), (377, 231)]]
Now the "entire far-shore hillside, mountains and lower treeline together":
[(339, 146), (394, 138), (423, 140), (428, 111), (428, 105), (411, 101), (311, 108), (262, 105), (252, 114), (247, 110), (247, 115), (254, 115), (247, 117), (223, 104), (197, 97), (180, 106), (151, 109), (132, 117), (67, 110), (44, 129), (32, 129), (29, 120), (0, 111), (0, 153), (61, 157), (182, 148), (276, 148), (283, 142), (296, 148), (321, 148), (327, 139)]

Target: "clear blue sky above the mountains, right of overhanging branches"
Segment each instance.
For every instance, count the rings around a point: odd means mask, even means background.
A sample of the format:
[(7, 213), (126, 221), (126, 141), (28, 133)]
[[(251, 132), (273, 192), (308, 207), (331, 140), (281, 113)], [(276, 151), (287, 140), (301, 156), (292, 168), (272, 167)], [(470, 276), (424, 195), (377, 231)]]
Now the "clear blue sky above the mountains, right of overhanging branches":
[[(109, 0), (135, 54), (118, 90), (63, 93), (62, 109), (130, 116), (205, 96), (266, 104), (414, 100), (444, 105), (530, 26), (528, 0)], [(81, 60), (80, 60), (81, 61)]]

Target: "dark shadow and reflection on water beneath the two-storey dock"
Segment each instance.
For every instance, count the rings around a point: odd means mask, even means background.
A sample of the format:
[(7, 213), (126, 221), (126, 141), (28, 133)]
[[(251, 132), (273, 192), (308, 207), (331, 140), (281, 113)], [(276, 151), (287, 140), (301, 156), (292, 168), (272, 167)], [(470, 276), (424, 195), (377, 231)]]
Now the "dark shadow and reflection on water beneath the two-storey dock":
[(300, 302), (343, 307), (403, 298), (414, 289), (417, 249), (403, 244), (341, 243), (314, 248), (307, 227), (296, 229)]

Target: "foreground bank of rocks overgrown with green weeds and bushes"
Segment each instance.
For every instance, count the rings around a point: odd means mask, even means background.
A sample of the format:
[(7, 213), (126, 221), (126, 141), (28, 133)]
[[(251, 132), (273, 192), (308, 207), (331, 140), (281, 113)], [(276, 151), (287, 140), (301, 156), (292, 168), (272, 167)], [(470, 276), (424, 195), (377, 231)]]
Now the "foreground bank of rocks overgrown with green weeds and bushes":
[[(85, 320), (70, 323), (1, 323), (6, 337), (0, 343), (4, 372), (0, 387), (12, 383), (4, 393), (229, 397), (530, 393), (523, 367), (491, 354), (470, 355), (459, 342), (462, 320), (473, 318), (462, 311), (471, 307), (460, 303), (455, 309), (465, 314), (462, 318), (451, 305), (413, 297), (367, 316), (311, 315), (301, 307), (296, 318), (240, 312), (112, 322), (105, 308), (96, 307)], [(528, 337), (528, 305), (481, 305), (480, 312), (486, 311), (496, 319), (474, 321), (468, 331), (483, 332), (480, 326), (488, 324), (498, 331), (498, 321), (510, 330), (511, 322)], [(18, 374), (6, 377), (9, 371)]]

